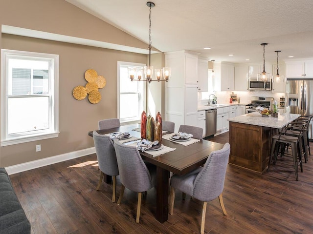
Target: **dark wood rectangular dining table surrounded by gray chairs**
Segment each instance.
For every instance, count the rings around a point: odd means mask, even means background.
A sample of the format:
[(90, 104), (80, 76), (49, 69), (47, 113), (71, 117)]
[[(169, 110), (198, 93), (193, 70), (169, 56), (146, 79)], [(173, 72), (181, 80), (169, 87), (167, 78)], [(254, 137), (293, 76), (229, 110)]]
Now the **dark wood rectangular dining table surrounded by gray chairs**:
[[(112, 132), (128, 132), (134, 137), (140, 138), (139, 124), (129, 124), (112, 128), (109, 130), (96, 130), (99, 134), (109, 134)], [(88, 132), (92, 137), (92, 131)], [(164, 133), (169, 134), (169, 132)], [(201, 139), (199, 142), (184, 146), (177, 142), (162, 139), (162, 144), (176, 150), (169, 153), (155, 156), (139, 151), (141, 157), (156, 165), (156, 220), (163, 223), (168, 218), (168, 195), (170, 172), (177, 175), (184, 175), (199, 166), (203, 165), (211, 152), (223, 148), (223, 144)], [(107, 182), (110, 177), (107, 177)]]

